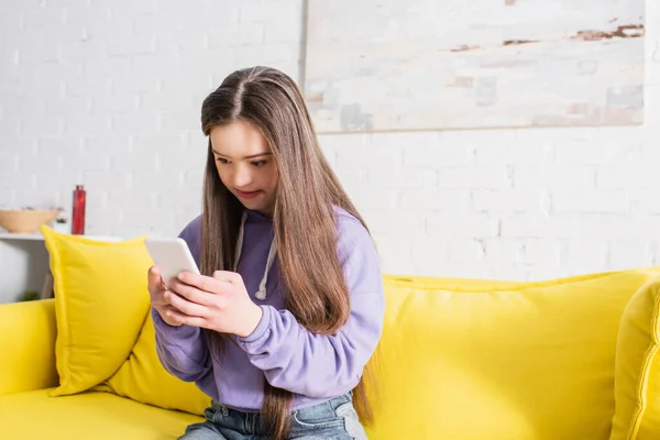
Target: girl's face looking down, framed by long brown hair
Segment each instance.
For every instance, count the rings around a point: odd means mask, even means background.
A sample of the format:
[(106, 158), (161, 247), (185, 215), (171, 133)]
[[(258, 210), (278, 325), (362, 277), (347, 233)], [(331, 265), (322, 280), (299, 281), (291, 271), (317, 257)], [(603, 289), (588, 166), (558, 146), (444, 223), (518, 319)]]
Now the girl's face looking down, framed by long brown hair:
[(266, 139), (243, 120), (209, 134), (220, 180), (248, 209), (273, 216), (277, 166)]

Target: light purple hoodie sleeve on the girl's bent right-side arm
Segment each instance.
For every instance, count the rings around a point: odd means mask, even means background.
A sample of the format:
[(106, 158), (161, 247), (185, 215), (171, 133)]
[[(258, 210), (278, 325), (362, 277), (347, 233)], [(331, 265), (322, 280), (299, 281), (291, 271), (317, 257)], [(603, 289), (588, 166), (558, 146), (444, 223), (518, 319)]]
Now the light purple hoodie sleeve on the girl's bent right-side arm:
[(288, 310), (262, 306), (264, 314), (257, 328), (238, 339), (250, 362), (275, 387), (315, 398), (345, 393), (360, 381), (381, 339), (383, 278), (371, 235), (358, 220), (343, 217), (338, 252), (351, 296), (351, 314), (336, 334), (312, 333)]

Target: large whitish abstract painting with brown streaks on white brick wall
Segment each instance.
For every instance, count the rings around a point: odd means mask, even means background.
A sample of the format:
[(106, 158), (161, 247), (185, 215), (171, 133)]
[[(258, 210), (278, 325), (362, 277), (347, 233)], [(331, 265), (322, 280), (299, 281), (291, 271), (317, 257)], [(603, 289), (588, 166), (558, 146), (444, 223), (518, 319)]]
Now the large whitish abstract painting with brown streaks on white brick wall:
[(645, 0), (309, 0), (320, 133), (644, 120)]

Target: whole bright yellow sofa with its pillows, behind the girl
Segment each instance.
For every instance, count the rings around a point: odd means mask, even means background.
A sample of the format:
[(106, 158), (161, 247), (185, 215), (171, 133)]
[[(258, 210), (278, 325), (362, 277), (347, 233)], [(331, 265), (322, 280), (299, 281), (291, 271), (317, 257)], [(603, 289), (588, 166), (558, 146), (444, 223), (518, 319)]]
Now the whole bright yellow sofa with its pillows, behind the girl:
[[(209, 400), (157, 360), (142, 239), (43, 232), (55, 298), (0, 306), (0, 439), (176, 439)], [(384, 286), (370, 439), (660, 439), (660, 267)]]

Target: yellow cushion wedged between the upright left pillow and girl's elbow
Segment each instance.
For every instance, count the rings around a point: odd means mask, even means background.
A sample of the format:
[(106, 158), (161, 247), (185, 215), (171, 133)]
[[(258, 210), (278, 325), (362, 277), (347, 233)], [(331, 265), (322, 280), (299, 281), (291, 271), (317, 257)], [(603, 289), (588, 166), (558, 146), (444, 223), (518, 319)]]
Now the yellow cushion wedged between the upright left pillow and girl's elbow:
[(147, 314), (131, 356), (106, 384), (108, 391), (119, 396), (200, 416), (211, 403), (210, 397), (193, 382), (183, 382), (163, 367), (156, 353), (156, 333), (151, 314)]

